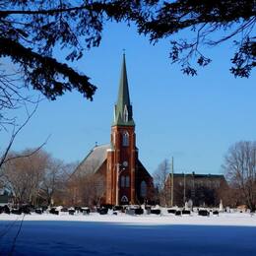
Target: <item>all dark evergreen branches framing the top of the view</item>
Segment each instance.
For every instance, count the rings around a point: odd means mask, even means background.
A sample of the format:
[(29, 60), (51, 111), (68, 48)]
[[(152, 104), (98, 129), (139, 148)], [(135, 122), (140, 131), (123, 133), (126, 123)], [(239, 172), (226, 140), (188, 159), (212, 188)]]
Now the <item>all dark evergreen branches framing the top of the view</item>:
[[(135, 23), (152, 42), (169, 37), (172, 62), (181, 63), (182, 71), (190, 75), (197, 73), (191, 61), (199, 66), (211, 62), (202, 45), (236, 39), (230, 71), (248, 77), (256, 65), (255, 17), (255, 0), (2, 0), (0, 57), (9, 56), (19, 64), (27, 84), (50, 99), (72, 90), (92, 99), (96, 86), (54, 59), (53, 50), (65, 49), (67, 61), (78, 60), (86, 48), (98, 46), (106, 21), (124, 21)], [(176, 38), (183, 30), (194, 32), (195, 39)], [(220, 30), (223, 37), (212, 39)]]

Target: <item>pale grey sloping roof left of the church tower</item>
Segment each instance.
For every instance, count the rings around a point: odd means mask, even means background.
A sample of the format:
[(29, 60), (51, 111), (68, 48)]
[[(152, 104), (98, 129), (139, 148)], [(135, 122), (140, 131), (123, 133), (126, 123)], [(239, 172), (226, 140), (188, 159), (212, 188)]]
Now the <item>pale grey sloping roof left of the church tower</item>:
[(86, 173), (96, 173), (98, 168), (102, 165), (104, 160), (106, 160), (106, 151), (110, 149), (109, 144), (96, 146), (88, 156), (82, 160), (79, 164), (75, 172), (82, 172), (83, 174)]

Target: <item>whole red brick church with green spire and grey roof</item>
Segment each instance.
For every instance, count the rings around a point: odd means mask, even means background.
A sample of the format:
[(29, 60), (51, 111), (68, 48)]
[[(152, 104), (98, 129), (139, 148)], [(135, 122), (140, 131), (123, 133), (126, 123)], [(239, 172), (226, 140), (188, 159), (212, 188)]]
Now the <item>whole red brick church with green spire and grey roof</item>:
[(93, 173), (103, 181), (101, 203), (142, 204), (153, 197), (153, 178), (139, 160), (135, 122), (123, 55), (119, 92), (114, 106), (110, 144), (96, 146), (75, 172)]

